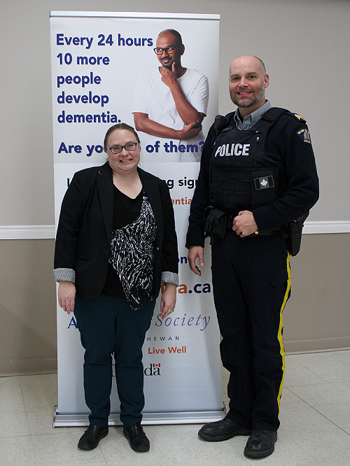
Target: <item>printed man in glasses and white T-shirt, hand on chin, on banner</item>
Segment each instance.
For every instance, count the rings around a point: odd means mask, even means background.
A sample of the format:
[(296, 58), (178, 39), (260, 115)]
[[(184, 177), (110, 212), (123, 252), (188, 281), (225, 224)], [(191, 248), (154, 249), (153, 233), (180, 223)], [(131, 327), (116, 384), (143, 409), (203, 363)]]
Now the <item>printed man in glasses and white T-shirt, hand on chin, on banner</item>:
[(182, 66), (185, 45), (178, 31), (162, 31), (153, 50), (160, 66), (137, 78), (132, 104), (135, 127), (145, 133), (144, 161), (197, 162), (204, 144), (207, 77)]

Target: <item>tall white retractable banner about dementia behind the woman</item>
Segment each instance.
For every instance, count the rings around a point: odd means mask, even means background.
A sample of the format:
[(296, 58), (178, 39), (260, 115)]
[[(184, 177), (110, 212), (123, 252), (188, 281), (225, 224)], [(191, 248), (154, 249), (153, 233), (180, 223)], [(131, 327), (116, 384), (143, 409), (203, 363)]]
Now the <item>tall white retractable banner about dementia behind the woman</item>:
[[(162, 94), (169, 89), (161, 81), (160, 62), (153, 48), (165, 29), (175, 29), (182, 36), (185, 51), (179, 82), (186, 99), (207, 115), (202, 132), (193, 139), (165, 139), (139, 132), (140, 166), (164, 179), (170, 189), (180, 277), (174, 313), (160, 319), (158, 300), (146, 334), (143, 422), (215, 421), (223, 411), (209, 248), (202, 276), (196, 276), (188, 267), (184, 245), (204, 137), (218, 113), (219, 17), (52, 11), (50, 26), (56, 223), (73, 174), (106, 162), (103, 141), (109, 127), (118, 122), (134, 126), (134, 112), (146, 113), (149, 118), (153, 112), (164, 112), (163, 125), (178, 129), (172, 96), (169, 92)], [(57, 346), (54, 425), (87, 425), (80, 335), (74, 316), (68, 316), (59, 306)], [(119, 404), (113, 383), (111, 425), (120, 424)]]

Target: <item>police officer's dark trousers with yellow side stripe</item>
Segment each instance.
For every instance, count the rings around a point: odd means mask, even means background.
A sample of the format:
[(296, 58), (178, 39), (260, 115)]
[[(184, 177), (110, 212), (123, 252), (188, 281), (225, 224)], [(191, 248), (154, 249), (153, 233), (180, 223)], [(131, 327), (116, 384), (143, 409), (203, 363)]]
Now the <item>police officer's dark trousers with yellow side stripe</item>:
[(290, 296), (286, 241), (229, 230), (211, 246), (221, 360), (230, 372), (228, 417), (253, 429), (279, 428), (285, 369), (282, 311)]

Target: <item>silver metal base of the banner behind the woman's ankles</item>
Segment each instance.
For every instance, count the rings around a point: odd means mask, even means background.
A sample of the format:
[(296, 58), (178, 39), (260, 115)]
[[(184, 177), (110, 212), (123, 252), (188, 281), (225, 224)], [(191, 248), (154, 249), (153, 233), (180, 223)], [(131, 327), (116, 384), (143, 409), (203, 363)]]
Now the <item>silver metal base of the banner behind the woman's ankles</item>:
[[(179, 413), (144, 413), (142, 424), (205, 424), (219, 421), (225, 416), (226, 407), (218, 411), (194, 411)], [(89, 425), (88, 414), (59, 414), (58, 407), (53, 411), (53, 427), (81, 427)], [(120, 422), (119, 414), (109, 415), (109, 425), (123, 425)]]

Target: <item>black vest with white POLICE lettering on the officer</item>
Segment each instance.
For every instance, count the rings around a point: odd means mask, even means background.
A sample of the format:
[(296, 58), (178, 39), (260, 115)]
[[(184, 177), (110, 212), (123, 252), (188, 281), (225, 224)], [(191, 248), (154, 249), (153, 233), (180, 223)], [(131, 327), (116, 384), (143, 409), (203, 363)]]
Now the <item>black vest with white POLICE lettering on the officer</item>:
[[(272, 107), (248, 129), (237, 129), (226, 118), (211, 152), (211, 204), (223, 211), (252, 211), (273, 202), (286, 184), (283, 166), (265, 153), (267, 132), (288, 112)], [(232, 115), (232, 114), (230, 114)], [(229, 116), (229, 115), (228, 115)]]

